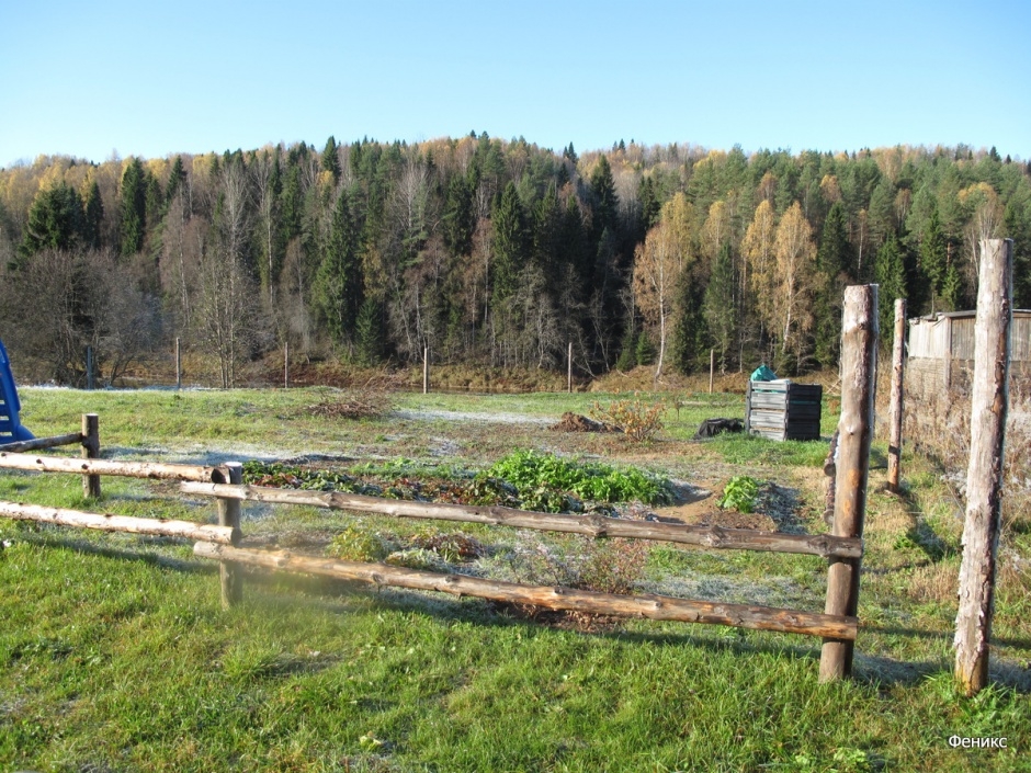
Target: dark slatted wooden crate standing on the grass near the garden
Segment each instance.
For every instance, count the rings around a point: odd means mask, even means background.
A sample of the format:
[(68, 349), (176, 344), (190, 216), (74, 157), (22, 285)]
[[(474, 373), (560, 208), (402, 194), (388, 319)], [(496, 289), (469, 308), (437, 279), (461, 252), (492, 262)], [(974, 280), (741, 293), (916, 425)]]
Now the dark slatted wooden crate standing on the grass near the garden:
[(745, 431), (771, 440), (819, 440), (819, 384), (748, 382)]

